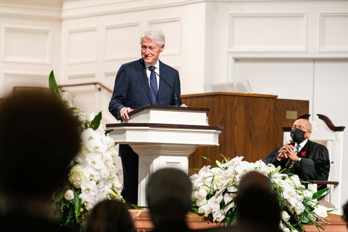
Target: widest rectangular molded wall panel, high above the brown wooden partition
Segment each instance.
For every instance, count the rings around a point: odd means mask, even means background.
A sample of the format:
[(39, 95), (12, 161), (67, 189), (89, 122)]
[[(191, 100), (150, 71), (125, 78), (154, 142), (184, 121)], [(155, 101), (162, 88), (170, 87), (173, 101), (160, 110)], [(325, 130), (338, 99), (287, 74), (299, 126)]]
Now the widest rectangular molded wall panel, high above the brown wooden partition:
[(228, 17), (228, 52), (306, 51), (306, 13), (231, 12)]

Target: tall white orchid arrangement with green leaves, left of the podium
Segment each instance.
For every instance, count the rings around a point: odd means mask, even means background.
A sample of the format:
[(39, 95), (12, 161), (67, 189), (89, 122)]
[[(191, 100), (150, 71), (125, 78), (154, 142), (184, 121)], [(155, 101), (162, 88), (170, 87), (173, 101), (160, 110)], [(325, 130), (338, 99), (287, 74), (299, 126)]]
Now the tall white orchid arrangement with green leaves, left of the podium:
[(66, 92), (60, 93), (53, 71), (49, 78), (50, 91), (57, 95), (72, 114), (81, 122), (81, 149), (69, 167), (69, 179), (65, 187), (54, 196), (53, 213), (64, 225), (73, 230), (82, 229), (88, 210), (105, 199), (123, 200), (118, 180), (115, 141), (100, 124), (98, 115), (86, 115), (74, 106)]

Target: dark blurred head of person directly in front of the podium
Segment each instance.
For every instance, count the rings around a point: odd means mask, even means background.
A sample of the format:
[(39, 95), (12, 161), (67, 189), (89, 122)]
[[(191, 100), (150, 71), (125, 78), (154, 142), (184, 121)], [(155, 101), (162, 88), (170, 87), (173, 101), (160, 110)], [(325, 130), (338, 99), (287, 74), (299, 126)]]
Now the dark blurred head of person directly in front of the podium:
[(191, 193), (190, 179), (176, 168), (162, 168), (150, 177), (146, 198), (154, 231), (191, 231), (185, 221)]

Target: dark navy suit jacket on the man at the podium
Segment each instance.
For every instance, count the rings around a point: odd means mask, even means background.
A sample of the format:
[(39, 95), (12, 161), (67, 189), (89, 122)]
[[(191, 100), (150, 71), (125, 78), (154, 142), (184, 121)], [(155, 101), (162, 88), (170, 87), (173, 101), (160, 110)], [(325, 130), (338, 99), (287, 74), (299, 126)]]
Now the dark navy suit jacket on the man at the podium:
[[(181, 105), (179, 72), (160, 62), (160, 76), (175, 90), (177, 106)], [(159, 83), (156, 105), (169, 106), (175, 104), (175, 94), (161, 78)], [(154, 104), (145, 70), (144, 60), (141, 58), (123, 64), (117, 72), (114, 93), (109, 103), (109, 111), (116, 119), (124, 107), (136, 109), (141, 106)]]

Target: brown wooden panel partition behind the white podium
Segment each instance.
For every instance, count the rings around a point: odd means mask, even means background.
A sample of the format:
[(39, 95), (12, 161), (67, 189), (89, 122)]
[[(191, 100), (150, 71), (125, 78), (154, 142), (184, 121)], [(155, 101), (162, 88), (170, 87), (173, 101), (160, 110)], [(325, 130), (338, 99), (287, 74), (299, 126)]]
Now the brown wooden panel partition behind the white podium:
[(308, 114), (309, 101), (277, 99), (274, 95), (209, 93), (183, 95), (189, 107), (209, 108), (209, 125), (223, 126), (220, 146), (199, 147), (189, 157), (189, 168), (201, 168), (213, 161), (236, 156), (255, 162), (264, 159), (282, 144), (282, 126), (289, 126), (294, 119), (287, 119), (287, 111), (296, 111), (297, 117)]

